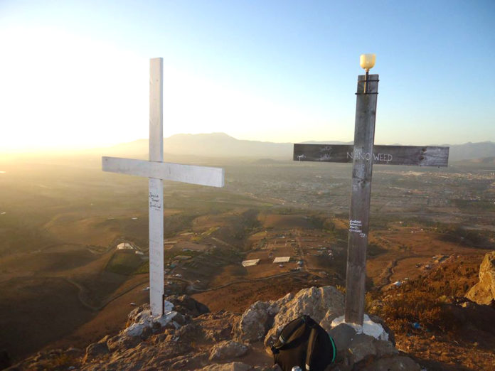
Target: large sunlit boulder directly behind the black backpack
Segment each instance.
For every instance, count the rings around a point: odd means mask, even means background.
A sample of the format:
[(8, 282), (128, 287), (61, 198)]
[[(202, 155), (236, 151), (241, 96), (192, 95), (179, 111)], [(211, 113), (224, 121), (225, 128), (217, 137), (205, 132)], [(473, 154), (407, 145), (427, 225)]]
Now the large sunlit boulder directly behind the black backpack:
[(267, 348), (275, 343), (287, 323), (302, 314), (307, 314), (328, 331), (334, 318), (344, 313), (344, 295), (334, 286), (310, 287), (302, 289), (294, 296), (284, 296), (274, 305), (278, 311), (272, 328), (265, 336)]

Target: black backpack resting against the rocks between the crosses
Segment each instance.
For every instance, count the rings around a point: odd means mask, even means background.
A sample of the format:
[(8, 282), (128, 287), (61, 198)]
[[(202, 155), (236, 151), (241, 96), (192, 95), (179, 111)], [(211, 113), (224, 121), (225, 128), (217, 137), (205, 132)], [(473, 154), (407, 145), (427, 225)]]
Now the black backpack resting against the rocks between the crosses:
[(272, 346), (273, 360), (284, 371), (323, 371), (335, 361), (334, 339), (311, 317), (303, 315), (287, 323)]

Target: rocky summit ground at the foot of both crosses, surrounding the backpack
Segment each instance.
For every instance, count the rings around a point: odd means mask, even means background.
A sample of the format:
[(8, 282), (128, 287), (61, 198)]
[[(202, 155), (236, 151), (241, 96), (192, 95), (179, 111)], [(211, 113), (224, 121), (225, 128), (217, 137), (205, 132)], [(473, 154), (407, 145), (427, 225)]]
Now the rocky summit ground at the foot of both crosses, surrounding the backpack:
[(385, 332), (381, 338), (346, 323), (337, 326), (334, 320), (344, 312), (344, 296), (332, 286), (257, 301), (242, 316), (209, 313), (189, 296), (170, 296), (165, 304), (166, 314), (160, 318), (152, 317), (148, 306), (134, 309), (119, 334), (105, 336), (85, 352), (73, 350), (64, 362), (62, 351), (52, 352), (53, 357), (40, 353), (10, 370), (268, 371), (273, 369), (272, 356), (264, 349), (302, 314), (318, 321), (335, 340), (338, 353), (329, 370), (420, 370), (395, 348), (393, 333), (380, 318), (371, 316), (370, 321), (380, 323), (377, 326)]

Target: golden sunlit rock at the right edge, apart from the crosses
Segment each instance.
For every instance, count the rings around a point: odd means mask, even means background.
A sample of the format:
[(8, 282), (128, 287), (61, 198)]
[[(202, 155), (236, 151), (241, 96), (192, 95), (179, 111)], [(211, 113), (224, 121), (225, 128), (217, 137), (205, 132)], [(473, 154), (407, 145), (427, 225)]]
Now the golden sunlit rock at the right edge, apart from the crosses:
[(495, 303), (495, 251), (484, 256), (479, 266), (479, 282), (468, 291), (466, 297), (478, 304)]

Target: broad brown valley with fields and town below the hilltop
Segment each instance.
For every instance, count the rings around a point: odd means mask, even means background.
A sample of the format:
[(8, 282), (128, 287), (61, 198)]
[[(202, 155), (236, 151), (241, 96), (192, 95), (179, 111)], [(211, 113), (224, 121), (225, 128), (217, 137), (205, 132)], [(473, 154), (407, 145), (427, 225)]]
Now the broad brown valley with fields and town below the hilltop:
[[(225, 167), (225, 188), (164, 188), (167, 295), (242, 313), (309, 286), (344, 289), (351, 166), (208, 164)], [(148, 301), (147, 181), (99, 166), (92, 157), (1, 163), (0, 348), (14, 360), (84, 347)], [(491, 173), (376, 166), (372, 192), (370, 303), (438, 269), (450, 281), (439, 296), (464, 296), (495, 249)], [(124, 242), (134, 248), (117, 249)]]

